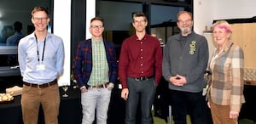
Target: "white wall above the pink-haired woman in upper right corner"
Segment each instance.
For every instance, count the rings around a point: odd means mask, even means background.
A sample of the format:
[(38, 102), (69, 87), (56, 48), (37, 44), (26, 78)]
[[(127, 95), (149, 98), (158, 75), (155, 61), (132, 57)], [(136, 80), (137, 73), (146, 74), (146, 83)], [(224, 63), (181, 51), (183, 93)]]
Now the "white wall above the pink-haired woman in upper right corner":
[(194, 29), (202, 34), (213, 20), (252, 18), (255, 0), (194, 0)]

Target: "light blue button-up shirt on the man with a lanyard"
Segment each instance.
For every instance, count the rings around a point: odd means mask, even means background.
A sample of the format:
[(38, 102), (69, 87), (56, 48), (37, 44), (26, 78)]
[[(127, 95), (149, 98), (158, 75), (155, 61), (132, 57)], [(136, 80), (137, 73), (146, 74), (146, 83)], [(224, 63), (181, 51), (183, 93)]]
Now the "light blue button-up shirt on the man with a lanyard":
[[(45, 49), (43, 49), (44, 41), (38, 41), (37, 43), (34, 33), (20, 39), (18, 59), (24, 82), (36, 84), (51, 82), (63, 72), (64, 44), (61, 37), (48, 33), (45, 40)], [(43, 51), (44, 60), (42, 60)], [(37, 69), (40, 64), (45, 65), (44, 70)]]

